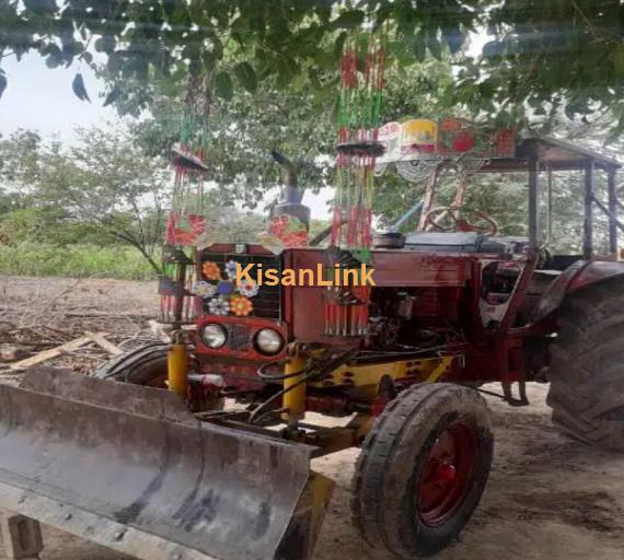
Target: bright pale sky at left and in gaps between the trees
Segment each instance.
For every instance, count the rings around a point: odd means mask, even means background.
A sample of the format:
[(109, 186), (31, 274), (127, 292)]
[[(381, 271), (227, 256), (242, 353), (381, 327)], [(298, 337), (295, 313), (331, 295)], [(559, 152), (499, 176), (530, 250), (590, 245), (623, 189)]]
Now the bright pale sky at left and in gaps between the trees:
[[(77, 128), (120, 122), (114, 108), (102, 106), (104, 83), (85, 65), (80, 72), (91, 103), (80, 101), (71, 90), (71, 82), (79, 71), (76, 65), (49, 69), (43, 58), (31, 54), (20, 62), (13, 56), (2, 59), (2, 69), (8, 79), (8, 88), (0, 98), (2, 137), (26, 128), (71, 144), (77, 141)], [(267, 200), (274, 197), (271, 194)], [(332, 197), (332, 189), (317, 195), (307, 192), (303, 203), (311, 208), (312, 218), (324, 220), (328, 218), (327, 200)]]

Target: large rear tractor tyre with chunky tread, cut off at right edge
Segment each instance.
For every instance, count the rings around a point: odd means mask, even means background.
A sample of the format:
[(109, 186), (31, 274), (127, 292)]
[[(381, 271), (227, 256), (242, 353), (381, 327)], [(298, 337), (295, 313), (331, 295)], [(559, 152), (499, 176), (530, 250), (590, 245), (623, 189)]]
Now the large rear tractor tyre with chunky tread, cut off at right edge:
[(573, 294), (551, 345), (553, 422), (585, 443), (624, 451), (624, 282)]

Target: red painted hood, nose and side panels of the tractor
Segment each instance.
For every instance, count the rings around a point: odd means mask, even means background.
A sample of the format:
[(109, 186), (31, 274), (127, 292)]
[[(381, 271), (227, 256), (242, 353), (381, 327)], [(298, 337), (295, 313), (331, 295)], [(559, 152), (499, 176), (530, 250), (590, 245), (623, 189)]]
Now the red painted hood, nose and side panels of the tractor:
[[(249, 254), (266, 254), (262, 248), (250, 246)], [(232, 253), (233, 246), (212, 246), (210, 252)], [(513, 382), (524, 376), (523, 340), (527, 335), (534, 335), (533, 329), (513, 329), (513, 317), (522, 300), (523, 291), (530, 280), (533, 266), (531, 259), (521, 257), (524, 270), (519, 279), (518, 289), (511, 300), (504, 320), (497, 328), (484, 327), (481, 320), (478, 302), (481, 290), (481, 270), (484, 260), (509, 261), (510, 255), (460, 254), (460, 253), (418, 253), (407, 250), (374, 250), (372, 267), (377, 287), (420, 289), (417, 318), (434, 328), (454, 325), (466, 338), (463, 369), (454, 368), (447, 380), (461, 381), (508, 381)], [(320, 248), (297, 248), (284, 253), (285, 268), (312, 268), (316, 265), (330, 266), (326, 254)], [(275, 328), (285, 339), (301, 342), (320, 342), (334, 346), (366, 347), (367, 337), (330, 337), (324, 334), (324, 292), (319, 287), (284, 287), (284, 320), (257, 317), (203, 316), (200, 328), (206, 323), (235, 324), (250, 329), (250, 339), (261, 328)], [(253, 345), (244, 350), (232, 351), (228, 348), (210, 350), (200, 339), (196, 353), (207, 371), (229, 371), (245, 374), (255, 372), (262, 363), (281, 360), (258, 353)], [(255, 365), (254, 365), (255, 364)], [(243, 374), (243, 375), (245, 375)], [(235, 376), (235, 375), (234, 375)], [(239, 385), (239, 384), (236, 384)]]

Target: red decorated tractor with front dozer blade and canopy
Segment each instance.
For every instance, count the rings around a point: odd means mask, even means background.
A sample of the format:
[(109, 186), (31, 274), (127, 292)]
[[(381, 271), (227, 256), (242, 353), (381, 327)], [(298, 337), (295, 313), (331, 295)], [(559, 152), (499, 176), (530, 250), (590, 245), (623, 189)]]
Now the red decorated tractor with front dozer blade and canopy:
[[(499, 236), (493, 217), (431, 208), (429, 197), (421, 231), (375, 235), (363, 326), (327, 323), (327, 288), (249, 287), (250, 313), (223, 314), (206, 298), (189, 329), (180, 306), (171, 345), (122, 355), (100, 378), (38, 371), (21, 388), (0, 387), (0, 506), (150, 560), (308, 558), (332, 486), (309, 462), (359, 446), (353, 512), (362, 537), (406, 559), (439, 551), (488, 478), (483, 384), (500, 382), (499, 396), (522, 406), (525, 384), (547, 380), (558, 425), (624, 448), (619, 166), (550, 139), (485, 162), (482, 173), (527, 172), (528, 237)], [(541, 247), (539, 179), (566, 170), (585, 170), (582, 255)], [(304, 221), (300, 202), (290, 185), (274, 213)], [(597, 210), (608, 217), (609, 256), (593, 254)], [(314, 270), (350, 257), (245, 244), (169, 255), (218, 290), (236, 265)], [(307, 412), (345, 420), (328, 428)]]

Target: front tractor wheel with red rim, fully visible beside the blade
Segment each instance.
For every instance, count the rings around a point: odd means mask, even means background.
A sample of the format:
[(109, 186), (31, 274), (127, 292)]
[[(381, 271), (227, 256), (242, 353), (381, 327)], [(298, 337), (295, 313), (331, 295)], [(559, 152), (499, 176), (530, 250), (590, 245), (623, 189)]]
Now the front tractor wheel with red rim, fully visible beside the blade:
[(487, 405), (474, 389), (437, 383), (401, 393), (357, 463), (351, 510), (362, 538), (405, 559), (447, 547), (481, 500), (493, 447)]

